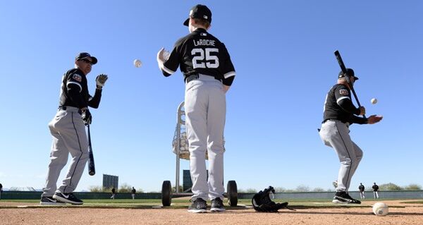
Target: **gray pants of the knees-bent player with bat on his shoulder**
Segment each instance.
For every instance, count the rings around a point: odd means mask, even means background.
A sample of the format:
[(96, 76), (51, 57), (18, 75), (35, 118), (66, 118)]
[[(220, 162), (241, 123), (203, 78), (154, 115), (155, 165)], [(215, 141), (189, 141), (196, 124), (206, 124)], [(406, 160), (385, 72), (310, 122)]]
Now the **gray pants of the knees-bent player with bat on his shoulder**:
[(363, 152), (350, 138), (350, 130), (345, 123), (338, 120), (329, 120), (321, 124), (319, 132), (324, 144), (333, 147), (338, 154), (341, 168), (338, 173), (337, 191), (348, 192), (351, 178), (363, 157)]

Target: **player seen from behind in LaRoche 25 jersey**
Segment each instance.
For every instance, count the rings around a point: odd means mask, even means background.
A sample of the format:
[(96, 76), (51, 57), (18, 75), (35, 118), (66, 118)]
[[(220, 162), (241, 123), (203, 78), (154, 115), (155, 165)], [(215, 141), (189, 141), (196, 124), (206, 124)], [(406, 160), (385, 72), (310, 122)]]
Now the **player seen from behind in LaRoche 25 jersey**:
[[(192, 7), (189, 35), (180, 38), (170, 54), (160, 49), (157, 62), (167, 77), (178, 67), (185, 80), (185, 125), (190, 150), (192, 204), (189, 212), (206, 212), (207, 198), (212, 212), (223, 207), (223, 129), (226, 118), (226, 92), (235, 78), (235, 68), (225, 45), (207, 30), (212, 11), (204, 5)], [(209, 155), (209, 181), (205, 162)]]

